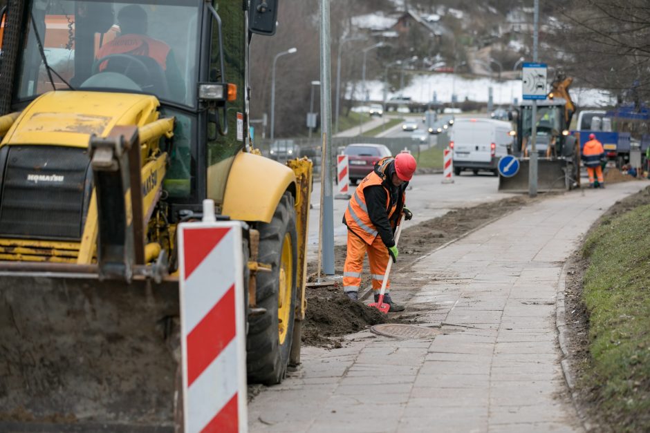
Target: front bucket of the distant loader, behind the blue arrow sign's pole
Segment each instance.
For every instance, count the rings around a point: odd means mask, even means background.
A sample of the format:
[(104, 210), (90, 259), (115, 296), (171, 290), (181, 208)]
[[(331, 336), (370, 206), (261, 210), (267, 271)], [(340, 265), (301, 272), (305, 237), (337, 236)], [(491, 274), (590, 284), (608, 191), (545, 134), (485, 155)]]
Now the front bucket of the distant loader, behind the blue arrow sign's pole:
[[(505, 193), (528, 193), (528, 171), (530, 160), (528, 158), (519, 160), (519, 171), (512, 177), (499, 175), (499, 191)], [(548, 191), (568, 191), (571, 189), (573, 180), (570, 174), (566, 174), (566, 167), (570, 164), (564, 159), (542, 159), (537, 160), (537, 191), (540, 193)], [(570, 170), (569, 170), (570, 171)]]

